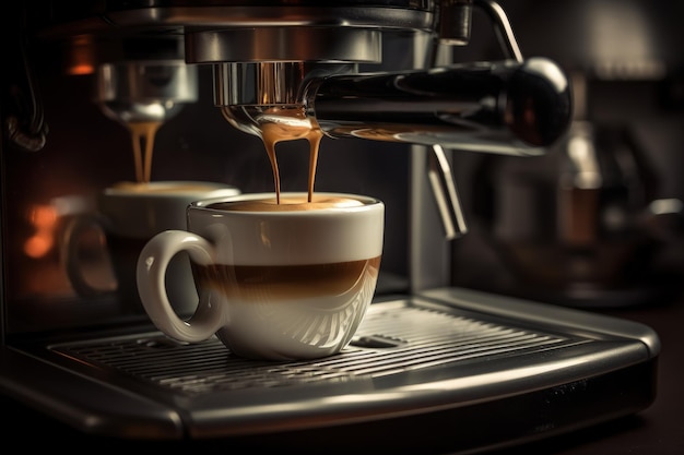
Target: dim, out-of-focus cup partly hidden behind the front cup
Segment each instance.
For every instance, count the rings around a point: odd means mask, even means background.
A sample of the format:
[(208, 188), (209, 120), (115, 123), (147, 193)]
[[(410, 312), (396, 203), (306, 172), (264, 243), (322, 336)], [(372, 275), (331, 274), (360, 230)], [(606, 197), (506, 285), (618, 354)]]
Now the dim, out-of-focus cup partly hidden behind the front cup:
[[(115, 295), (125, 313), (143, 313), (135, 286), (135, 264), (144, 244), (156, 234), (186, 227), (186, 208), (197, 200), (239, 194), (225, 183), (204, 181), (119, 182), (97, 195), (96, 208), (72, 217), (62, 236), (62, 263), (71, 286), (79, 296)], [(84, 259), (81, 243), (89, 232), (102, 232), (104, 256), (108, 260), (114, 285), (89, 280), (93, 263)], [(92, 255), (92, 254), (91, 254)], [(172, 300), (178, 311), (194, 308), (197, 292), (188, 277), (186, 258), (172, 265)]]

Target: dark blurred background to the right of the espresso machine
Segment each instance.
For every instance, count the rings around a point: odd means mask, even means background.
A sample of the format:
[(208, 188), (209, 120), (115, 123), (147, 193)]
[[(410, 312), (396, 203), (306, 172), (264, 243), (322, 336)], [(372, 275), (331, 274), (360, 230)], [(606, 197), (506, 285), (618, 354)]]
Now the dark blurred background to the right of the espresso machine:
[[(499, 3), (523, 57), (571, 75), (575, 121), (542, 158), (455, 154), (470, 232), (453, 242), (453, 283), (573, 307), (671, 300), (684, 273), (684, 3)], [(479, 21), (455, 59), (497, 58)]]

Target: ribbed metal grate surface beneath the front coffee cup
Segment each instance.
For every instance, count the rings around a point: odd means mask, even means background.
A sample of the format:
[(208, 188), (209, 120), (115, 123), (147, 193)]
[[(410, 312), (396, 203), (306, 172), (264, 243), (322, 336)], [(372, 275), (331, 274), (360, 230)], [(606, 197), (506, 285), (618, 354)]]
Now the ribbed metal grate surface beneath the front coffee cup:
[(375, 379), (410, 370), (558, 349), (589, 339), (481, 321), (467, 312), (373, 304), (341, 354), (307, 361), (253, 361), (217, 339), (180, 344), (154, 333), (52, 346), (62, 356), (114, 368), (185, 394)]

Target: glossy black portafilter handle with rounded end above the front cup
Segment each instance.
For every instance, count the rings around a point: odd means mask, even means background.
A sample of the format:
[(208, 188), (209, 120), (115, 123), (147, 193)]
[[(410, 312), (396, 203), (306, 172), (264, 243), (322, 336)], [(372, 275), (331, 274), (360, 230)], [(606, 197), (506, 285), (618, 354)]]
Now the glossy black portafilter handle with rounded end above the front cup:
[(400, 73), (332, 75), (305, 88), (332, 137), (541, 155), (569, 128), (569, 79), (553, 61), (473, 62)]

